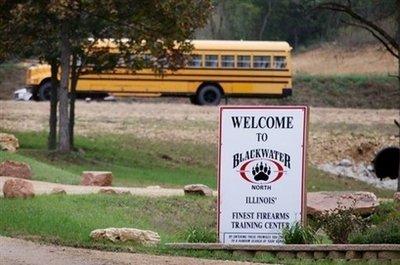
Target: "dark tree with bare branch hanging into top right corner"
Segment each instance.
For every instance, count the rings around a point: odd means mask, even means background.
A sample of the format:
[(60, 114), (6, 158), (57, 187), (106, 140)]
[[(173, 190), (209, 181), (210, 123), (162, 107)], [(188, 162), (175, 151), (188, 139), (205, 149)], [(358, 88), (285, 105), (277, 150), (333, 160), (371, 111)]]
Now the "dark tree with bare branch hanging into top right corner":
[[(398, 73), (396, 77), (398, 79), (398, 85), (400, 89), (400, 0), (395, 0), (394, 10), (388, 10), (389, 15), (393, 15), (396, 21), (395, 22), (396, 33), (394, 35), (390, 34), (383, 26), (381, 26), (379, 24), (379, 21), (372, 20), (370, 17), (371, 12), (363, 14), (359, 8), (360, 6), (357, 5), (357, 3), (355, 2), (356, 1), (354, 0), (322, 1), (317, 5), (317, 8), (342, 13), (345, 15), (345, 20), (343, 20), (345, 24), (362, 28), (370, 32), (386, 48), (386, 50), (397, 59)], [(381, 9), (379, 7), (378, 8), (372, 7), (370, 9), (367, 9), (367, 11), (371, 10), (381, 10)], [(381, 15), (379, 15), (378, 17), (382, 18)], [(400, 127), (399, 127), (399, 136), (400, 136)], [(397, 191), (400, 191), (400, 161), (399, 161)]]

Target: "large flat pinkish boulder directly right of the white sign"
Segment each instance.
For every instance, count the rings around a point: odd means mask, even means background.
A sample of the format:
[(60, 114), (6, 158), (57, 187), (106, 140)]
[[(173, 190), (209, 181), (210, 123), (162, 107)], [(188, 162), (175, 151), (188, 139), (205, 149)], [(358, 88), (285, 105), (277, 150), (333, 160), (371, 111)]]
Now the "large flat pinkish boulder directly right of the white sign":
[(361, 215), (372, 214), (379, 206), (378, 198), (372, 192), (320, 191), (307, 193), (307, 213), (321, 214), (341, 205), (353, 208)]

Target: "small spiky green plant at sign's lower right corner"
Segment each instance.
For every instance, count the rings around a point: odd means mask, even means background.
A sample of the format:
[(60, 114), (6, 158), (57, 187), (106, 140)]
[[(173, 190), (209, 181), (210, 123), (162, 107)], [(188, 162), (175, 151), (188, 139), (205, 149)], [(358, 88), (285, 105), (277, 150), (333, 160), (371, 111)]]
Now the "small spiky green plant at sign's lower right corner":
[(299, 223), (284, 228), (282, 237), (285, 244), (314, 244), (317, 242), (314, 230), (310, 227), (303, 227)]

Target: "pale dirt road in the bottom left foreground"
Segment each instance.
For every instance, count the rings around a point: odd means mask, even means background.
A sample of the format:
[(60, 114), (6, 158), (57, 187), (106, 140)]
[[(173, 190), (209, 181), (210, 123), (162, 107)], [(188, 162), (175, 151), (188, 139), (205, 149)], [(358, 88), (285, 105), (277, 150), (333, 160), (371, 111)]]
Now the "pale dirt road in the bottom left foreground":
[(0, 237), (0, 264), (4, 265), (214, 265), (256, 264), (249, 262), (216, 261), (186, 257), (155, 256), (147, 254), (106, 252), (38, 243)]

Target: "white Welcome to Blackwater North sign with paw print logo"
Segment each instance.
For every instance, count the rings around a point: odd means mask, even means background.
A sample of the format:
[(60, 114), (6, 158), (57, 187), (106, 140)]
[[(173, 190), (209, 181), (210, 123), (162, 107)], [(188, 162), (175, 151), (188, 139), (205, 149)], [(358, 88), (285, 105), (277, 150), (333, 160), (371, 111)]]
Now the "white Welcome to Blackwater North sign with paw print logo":
[(306, 106), (220, 108), (220, 243), (282, 244), (304, 221), (307, 123)]

